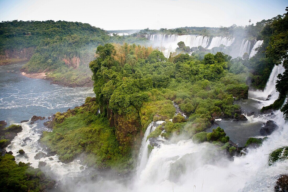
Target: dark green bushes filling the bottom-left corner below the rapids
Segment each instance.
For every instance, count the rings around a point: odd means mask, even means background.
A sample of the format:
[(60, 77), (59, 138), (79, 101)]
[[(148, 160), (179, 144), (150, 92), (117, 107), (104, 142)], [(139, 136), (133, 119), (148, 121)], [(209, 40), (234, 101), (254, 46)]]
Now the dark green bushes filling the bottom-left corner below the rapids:
[(34, 169), (25, 164), (15, 162), (12, 155), (5, 154), (0, 157), (0, 186), (1, 191), (46, 191), (54, 186), (54, 181), (45, 177), (40, 169)]

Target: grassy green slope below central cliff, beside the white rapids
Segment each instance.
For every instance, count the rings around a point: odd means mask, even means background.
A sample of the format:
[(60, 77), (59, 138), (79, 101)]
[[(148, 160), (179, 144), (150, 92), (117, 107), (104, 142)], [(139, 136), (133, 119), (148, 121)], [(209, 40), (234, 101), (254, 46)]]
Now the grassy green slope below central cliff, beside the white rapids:
[[(84, 155), (83, 163), (90, 167), (111, 167), (119, 172), (133, 168), (129, 148), (120, 146), (115, 127), (110, 127), (106, 117), (96, 115), (98, 105), (88, 97), (83, 106), (56, 116), (67, 116), (62, 123), (53, 121), (52, 132), (43, 132), (42, 144), (59, 155), (65, 163)], [(54, 118), (55, 119), (55, 118)]]

